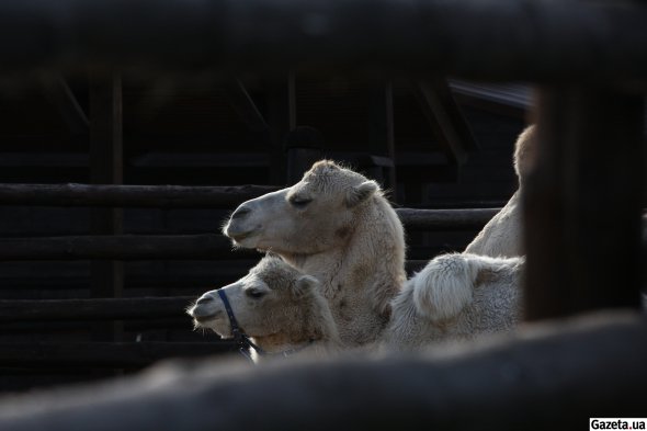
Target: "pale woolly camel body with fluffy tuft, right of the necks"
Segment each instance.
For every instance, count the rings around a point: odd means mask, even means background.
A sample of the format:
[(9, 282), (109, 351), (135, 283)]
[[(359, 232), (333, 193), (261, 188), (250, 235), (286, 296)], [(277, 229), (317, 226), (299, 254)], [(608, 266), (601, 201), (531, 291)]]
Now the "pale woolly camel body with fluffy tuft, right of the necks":
[(514, 328), (523, 269), (524, 258), (436, 257), (393, 300), (384, 345), (415, 349)]

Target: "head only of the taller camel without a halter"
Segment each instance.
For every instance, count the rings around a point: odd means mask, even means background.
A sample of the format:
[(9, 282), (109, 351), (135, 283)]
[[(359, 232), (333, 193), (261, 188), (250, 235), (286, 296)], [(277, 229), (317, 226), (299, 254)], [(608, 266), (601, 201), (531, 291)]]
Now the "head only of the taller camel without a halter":
[(315, 254), (347, 241), (375, 195), (375, 181), (321, 160), (293, 186), (241, 204), (223, 231), (239, 247)]

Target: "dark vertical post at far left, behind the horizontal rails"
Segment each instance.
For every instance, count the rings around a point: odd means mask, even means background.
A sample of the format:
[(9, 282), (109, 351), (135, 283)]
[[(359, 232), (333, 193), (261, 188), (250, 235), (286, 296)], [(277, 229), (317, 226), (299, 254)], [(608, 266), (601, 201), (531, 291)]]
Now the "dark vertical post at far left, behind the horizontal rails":
[[(94, 72), (90, 78), (90, 181), (93, 184), (123, 183), (122, 80), (116, 72)], [(94, 208), (92, 232), (123, 232), (123, 211)], [(121, 261), (91, 262), (91, 296), (120, 297), (124, 287)], [(118, 341), (122, 325), (98, 326), (95, 339)]]

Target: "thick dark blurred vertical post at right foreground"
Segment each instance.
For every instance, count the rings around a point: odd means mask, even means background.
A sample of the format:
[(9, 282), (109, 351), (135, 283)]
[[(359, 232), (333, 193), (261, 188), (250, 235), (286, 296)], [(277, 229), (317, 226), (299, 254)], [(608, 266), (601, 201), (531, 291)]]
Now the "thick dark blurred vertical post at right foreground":
[(640, 305), (644, 97), (544, 88), (524, 184), (527, 320)]

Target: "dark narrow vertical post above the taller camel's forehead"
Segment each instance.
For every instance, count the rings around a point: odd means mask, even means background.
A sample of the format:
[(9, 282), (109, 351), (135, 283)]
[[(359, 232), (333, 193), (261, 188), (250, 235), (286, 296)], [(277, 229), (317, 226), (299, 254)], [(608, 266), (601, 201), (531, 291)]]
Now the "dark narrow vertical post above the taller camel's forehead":
[(284, 141), (296, 127), (296, 77), (290, 72), (284, 81), (268, 86), (268, 112), (265, 121), (270, 126), (270, 180), (272, 184), (286, 184)]

